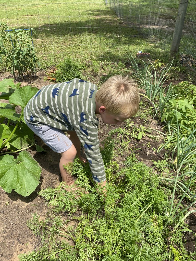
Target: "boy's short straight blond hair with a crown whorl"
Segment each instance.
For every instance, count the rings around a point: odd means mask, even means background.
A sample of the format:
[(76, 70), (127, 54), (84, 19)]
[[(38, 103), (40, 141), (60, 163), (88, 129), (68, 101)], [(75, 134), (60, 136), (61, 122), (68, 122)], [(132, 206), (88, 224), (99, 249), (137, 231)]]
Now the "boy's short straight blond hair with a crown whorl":
[(107, 112), (124, 118), (134, 116), (140, 102), (136, 82), (121, 74), (108, 78), (96, 92), (95, 100)]

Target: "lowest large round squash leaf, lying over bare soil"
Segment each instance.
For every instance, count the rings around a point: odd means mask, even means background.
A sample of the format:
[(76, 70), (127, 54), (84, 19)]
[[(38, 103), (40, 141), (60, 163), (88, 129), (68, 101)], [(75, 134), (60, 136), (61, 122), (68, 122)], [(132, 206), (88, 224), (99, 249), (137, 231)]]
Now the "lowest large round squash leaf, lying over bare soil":
[(14, 189), (20, 195), (30, 195), (38, 186), (41, 168), (27, 151), (21, 151), (17, 159), (0, 157), (0, 186), (8, 193)]

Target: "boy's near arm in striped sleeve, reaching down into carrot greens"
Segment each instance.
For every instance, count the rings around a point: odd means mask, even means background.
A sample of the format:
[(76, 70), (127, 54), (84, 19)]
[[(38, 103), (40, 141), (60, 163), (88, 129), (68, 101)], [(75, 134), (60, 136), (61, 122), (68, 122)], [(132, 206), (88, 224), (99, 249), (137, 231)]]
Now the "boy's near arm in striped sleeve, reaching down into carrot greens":
[(97, 126), (92, 122), (80, 123), (74, 127), (76, 134), (84, 147), (84, 152), (90, 165), (93, 180), (101, 186), (106, 184), (105, 168), (99, 149)]

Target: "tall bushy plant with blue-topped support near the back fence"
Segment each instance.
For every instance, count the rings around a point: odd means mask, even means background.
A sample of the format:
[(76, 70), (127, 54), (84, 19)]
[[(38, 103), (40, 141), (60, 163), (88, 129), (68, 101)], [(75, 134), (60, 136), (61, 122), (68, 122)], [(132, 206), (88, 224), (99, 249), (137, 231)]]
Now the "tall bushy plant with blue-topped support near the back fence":
[(9, 29), (6, 23), (0, 23), (0, 62), (2, 55), (5, 57), (5, 64), (11, 69), (15, 78), (15, 70), (18, 70), (19, 77), (24, 79), (24, 73), (35, 72), (37, 57), (33, 49), (33, 40), (30, 33), (33, 29), (16, 30)]

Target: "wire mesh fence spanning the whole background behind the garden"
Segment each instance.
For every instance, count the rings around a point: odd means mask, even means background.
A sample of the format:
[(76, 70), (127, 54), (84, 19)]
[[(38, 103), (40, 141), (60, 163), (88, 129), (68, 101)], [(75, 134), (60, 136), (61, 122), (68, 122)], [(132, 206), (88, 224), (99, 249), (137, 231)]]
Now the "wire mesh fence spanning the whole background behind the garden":
[[(123, 60), (126, 54), (169, 53), (178, 0), (112, 0), (57, 3), (17, 1), (0, 5), (0, 17), (11, 28), (33, 28), (33, 43), (42, 64), (71, 56), (85, 61)], [(195, 57), (194, 0), (189, 1), (181, 53)]]

